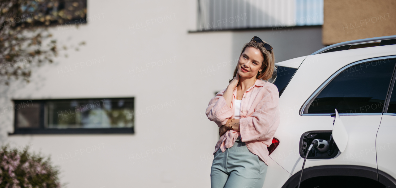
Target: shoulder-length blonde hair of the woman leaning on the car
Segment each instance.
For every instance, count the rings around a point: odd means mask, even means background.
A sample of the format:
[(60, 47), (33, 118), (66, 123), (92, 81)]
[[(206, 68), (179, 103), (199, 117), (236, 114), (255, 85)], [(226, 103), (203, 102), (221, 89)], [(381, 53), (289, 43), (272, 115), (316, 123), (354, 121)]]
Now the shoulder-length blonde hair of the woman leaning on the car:
[[(242, 53), (244, 53), (247, 47), (254, 47), (255, 49), (258, 49), (259, 51), (261, 51), (261, 55), (263, 55), (264, 57), (263, 62), (261, 62), (261, 68), (263, 68), (263, 70), (261, 71), (261, 74), (257, 73), (256, 79), (263, 79), (263, 80), (270, 79), (272, 77), (272, 73), (274, 72), (274, 64), (275, 64), (274, 50), (269, 52), (267, 51), (267, 49), (265, 49), (265, 47), (263, 47), (263, 43), (256, 43), (255, 41), (250, 41), (249, 43), (246, 43), (244, 45), (240, 56), (242, 55)], [(236, 73), (238, 73), (238, 64), (236, 64), (234, 76), (230, 79), (229, 83), (231, 83), (232, 79), (236, 77)]]

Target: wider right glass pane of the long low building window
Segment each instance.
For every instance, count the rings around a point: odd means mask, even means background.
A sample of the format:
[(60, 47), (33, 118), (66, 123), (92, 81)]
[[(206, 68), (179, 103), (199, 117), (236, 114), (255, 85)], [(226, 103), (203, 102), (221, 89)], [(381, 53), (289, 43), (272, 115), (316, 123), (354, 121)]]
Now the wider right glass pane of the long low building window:
[(133, 99), (81, 99), (47, 102), (47, 128), (131, 128)]

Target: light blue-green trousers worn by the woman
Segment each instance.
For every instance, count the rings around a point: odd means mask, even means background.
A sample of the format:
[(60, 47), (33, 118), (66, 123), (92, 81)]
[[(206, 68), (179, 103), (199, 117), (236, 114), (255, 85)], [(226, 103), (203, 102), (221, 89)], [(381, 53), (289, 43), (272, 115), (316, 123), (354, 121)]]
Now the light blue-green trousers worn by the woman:
[(263, 188), (267, 165), (236, 139), (225, 152), (214, 154), (210, 171), (211, 188)]

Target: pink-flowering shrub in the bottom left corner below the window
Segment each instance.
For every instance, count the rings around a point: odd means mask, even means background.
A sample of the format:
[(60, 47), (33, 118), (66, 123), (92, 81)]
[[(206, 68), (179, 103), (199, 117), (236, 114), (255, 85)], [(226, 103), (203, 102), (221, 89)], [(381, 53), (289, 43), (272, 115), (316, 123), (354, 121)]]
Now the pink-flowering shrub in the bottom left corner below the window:
[(0, 188), (60, 188), (59, 167), (28, 149), (0, 148)]

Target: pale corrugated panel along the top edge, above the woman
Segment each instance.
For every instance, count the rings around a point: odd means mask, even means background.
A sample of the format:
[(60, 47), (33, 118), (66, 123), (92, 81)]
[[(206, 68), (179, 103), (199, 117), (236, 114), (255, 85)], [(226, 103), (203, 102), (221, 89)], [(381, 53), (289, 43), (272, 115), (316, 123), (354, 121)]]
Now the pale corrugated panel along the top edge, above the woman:
[(323, 24), (323, 0), (198, 0), (198, 31)]

